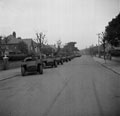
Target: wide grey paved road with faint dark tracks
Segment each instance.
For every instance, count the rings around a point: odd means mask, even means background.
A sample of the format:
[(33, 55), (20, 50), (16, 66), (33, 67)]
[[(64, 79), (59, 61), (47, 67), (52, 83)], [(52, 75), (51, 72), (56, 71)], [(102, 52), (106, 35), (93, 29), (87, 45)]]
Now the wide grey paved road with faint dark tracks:
[(0, 116), (120, 116), (120, 76), (89, 56), (0, 82)]

